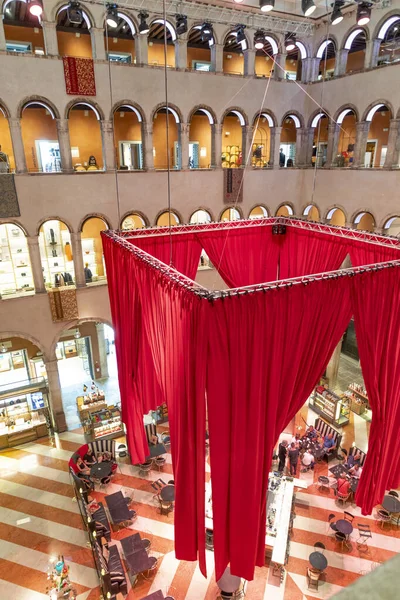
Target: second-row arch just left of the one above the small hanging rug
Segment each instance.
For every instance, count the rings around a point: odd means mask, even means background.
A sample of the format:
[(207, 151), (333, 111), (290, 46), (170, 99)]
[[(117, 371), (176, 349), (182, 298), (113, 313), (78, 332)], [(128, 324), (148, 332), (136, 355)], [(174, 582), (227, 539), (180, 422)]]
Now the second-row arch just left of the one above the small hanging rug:
[(205, 108), (193, 113), (190, 119), (189, 167), (191, 169), (209, 169), (213, 157), (214, 117)]

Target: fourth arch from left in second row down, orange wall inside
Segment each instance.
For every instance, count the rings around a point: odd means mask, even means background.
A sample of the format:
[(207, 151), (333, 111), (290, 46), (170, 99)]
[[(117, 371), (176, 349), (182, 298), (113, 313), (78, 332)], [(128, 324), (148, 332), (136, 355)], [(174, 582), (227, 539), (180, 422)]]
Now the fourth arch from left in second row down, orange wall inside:
[(114, 142), (118, 169), (143, 169), (142, 126), (142, 115), (135, 106), (125, 104), (114, 112)]

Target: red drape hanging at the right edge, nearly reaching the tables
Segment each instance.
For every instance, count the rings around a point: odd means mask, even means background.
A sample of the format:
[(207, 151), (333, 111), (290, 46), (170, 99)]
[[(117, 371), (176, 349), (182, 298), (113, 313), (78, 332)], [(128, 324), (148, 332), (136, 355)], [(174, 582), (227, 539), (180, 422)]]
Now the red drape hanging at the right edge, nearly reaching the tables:
[(364, 515), (400, 484), (400, 277), (396, 268), (352, 280), (358, 350), (372, 423), (356, 502)]

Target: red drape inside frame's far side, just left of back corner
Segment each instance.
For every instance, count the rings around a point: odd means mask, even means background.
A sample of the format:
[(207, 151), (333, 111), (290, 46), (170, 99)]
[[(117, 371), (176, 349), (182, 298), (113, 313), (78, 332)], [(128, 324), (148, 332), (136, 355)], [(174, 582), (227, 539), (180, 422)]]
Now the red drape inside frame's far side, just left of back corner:
[(281, 236), (272, 236), (271, 227), (213, 230), (197, 238), (229, 287), (277, 279)]

